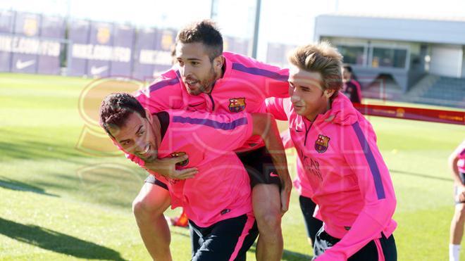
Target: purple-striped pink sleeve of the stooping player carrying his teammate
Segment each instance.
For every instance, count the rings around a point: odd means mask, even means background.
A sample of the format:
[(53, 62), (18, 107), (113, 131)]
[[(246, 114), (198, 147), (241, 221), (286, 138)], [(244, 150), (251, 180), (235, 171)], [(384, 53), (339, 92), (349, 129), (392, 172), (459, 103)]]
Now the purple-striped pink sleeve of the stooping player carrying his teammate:
[(182, 129), (192, 144), (204, 152), (231, 152), (240, 148), (252, 136), (253, 122), (249, 113), (219, 114), (184, 110), (170, 113), (176, 128)]

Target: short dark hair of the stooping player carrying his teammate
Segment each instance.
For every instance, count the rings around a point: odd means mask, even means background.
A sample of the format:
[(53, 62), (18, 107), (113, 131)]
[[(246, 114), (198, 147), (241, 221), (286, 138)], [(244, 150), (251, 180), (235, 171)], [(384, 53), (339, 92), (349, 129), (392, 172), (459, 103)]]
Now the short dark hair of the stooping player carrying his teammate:
[(144, 107), (134, 96), (123, 92), (109, 94), (101, 102), (99, 111), (100, 125), (107, 134), (112, 136), (109, 127), (122, 127), (131, 113), (138, 113), (141, 117), (147, 117)]

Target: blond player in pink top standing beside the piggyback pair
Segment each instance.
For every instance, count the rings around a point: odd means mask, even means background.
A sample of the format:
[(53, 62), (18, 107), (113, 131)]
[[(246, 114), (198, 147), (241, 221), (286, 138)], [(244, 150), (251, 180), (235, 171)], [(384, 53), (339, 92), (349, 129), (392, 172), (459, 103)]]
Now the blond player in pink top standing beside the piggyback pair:
[(328, 43), (290, 56), (290, 98), (271, 98), (268, 111), (288, 120), (315, 217), (314, 257), (322, 260), (397, 260), (392, 232), (396, 199), (373, 127), (342, 87), (342, 56)]

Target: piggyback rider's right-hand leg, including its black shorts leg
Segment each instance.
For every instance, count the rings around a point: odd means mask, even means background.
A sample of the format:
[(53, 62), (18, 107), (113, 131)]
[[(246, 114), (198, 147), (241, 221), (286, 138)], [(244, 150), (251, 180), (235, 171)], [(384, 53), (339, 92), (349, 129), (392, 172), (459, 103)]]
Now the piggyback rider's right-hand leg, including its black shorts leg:
[(265, 147), (238, 154), (250, 177), (252, 205), (259, 227), (256, 260), (280, 260), (283, 255), (280, 179)]

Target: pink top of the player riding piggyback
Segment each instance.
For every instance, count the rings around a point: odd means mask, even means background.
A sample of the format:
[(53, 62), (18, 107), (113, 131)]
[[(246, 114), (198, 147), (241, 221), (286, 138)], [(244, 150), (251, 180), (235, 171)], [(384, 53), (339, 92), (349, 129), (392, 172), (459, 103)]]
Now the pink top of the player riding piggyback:
[[(205, 110), (218, 113), (264, 113), (265, 99), (289, 96), (289, 70), (260, 63), (247, 56), (224, 52), (225, 72), (210, 94), (187, 93), (177, 65), (137, 94), (142, 106), (151, 113), (166, 109)], [(259, 136), (252, 136), (238, 151), (263, 146)]]

